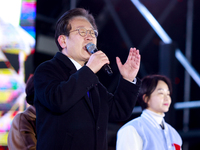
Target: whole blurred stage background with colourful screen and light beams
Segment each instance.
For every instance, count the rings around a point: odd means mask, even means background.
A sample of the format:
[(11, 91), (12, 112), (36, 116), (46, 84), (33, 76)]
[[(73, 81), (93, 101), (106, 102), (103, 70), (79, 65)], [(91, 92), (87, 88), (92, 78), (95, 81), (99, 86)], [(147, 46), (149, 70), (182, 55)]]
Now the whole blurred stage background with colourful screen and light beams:
[[(108, 76), (100, 70), (99, 80), (114, 92), (119, 79), (115, 57), (124, 63), (130, 47), (139, 49), (138, 77), (171, 79), (172, 104), (165, 120), (180, 133), (183, 150), (200, 149), (199, 0), (0, 0), (0, 149), (7, 149), (13, 117), (27, 107), (26, 80), (58, 51), (57, 19), (75, 7), (94, 15), (97, 48), (114, 72)], [(136, 104), (129, 120), (140, 114)], [(109, 123), (109, 150), (115, 150), (117, 130), (129, 120)]]

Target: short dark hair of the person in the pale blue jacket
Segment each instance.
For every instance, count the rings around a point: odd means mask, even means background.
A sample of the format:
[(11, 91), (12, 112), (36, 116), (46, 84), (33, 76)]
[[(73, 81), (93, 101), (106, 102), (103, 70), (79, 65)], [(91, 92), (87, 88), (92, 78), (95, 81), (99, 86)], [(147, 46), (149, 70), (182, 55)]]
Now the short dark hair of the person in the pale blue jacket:
[[(156, 89), (159, 80), (164, 81), (168, 85), (168, 88), (170, 91), (170, 96), (172, 95), (172, 85), (171, 85), (171, 81), (169, 78), (167, 78), (164, 75), (145, 76), (142, 79), (142, 85), (141, 85), (140, 93), (138, 95), (138, 103), (142, 107), (142, 110), (144, 110), (148, 107), (147, 102), (149, 101), (151, 94)], [(147, 102), (145, 102), (143, 99), (144, 94), (146, 94), (145, 97), (148, 98)]]

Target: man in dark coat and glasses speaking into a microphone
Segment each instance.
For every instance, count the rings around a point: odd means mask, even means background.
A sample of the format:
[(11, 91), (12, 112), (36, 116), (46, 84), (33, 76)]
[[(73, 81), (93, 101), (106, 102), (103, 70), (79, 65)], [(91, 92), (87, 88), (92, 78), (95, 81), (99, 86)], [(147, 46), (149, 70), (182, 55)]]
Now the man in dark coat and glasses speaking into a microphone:
[(60, 52), (34, 75), (38, 150), (106, 150), (108, 121), (130, 117), (141, 83), (139, 50), (130, 48), (125, 64), (116, 58), (121, 77), (115, 93), (109, 93), (96, 76), (110, 63), (108, 57), (86, 49), (88, 43), (96, 45), (97, 35), (85, 9), (72, 9), (58, 20)]

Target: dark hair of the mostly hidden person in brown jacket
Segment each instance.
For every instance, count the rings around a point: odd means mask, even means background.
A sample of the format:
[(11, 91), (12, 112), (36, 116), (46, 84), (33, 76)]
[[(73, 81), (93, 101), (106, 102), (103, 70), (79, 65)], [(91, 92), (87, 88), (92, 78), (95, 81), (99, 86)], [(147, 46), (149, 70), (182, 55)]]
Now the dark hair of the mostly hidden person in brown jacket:
[(34, 102), (34, 75), (31, 74), (26, 82), (26, 101), (28, 104), (33, 105)]

